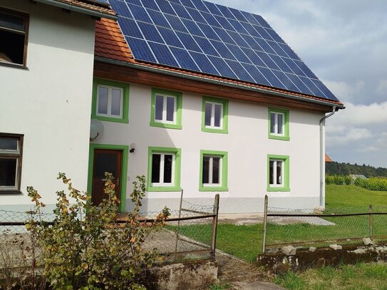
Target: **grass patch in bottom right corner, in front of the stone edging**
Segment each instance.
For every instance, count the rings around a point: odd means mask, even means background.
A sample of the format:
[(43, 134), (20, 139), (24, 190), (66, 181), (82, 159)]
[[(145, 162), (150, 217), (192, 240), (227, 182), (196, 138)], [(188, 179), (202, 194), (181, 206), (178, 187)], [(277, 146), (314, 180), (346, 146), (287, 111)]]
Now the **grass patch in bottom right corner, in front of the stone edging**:
[(387, 290), (387, 264), (342, 265), (338, 268), (308, 269), (300, 274), (287, 272), (274, 282), (290, 290)]

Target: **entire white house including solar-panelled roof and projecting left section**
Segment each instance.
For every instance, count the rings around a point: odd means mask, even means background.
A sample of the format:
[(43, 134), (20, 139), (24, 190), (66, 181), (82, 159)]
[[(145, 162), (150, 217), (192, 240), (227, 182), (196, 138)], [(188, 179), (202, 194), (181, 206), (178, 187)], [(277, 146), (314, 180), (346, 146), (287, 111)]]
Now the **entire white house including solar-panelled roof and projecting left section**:
[[(122, 212), (324, 207), (324, 118), (344, 105), (262, 17), (202, 0), (0, 4), (0, 207), (47, 210), (58, 172)], [(18, 48), (15, 50), (14, 48)], [(92, 130), (91, 130), (92, 127)]]

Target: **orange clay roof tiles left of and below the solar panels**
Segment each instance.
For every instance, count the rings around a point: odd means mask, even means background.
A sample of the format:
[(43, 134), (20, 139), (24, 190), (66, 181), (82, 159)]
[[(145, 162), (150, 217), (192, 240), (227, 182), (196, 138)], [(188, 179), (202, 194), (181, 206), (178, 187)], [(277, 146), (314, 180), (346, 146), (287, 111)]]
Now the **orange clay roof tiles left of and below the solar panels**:
[(259, 84), (247, 83), (244, 81), (236, 81), (229, 78), (222, 78), (218, 76), (210, 76), (204, 73), (196, 73), (192, 71), (186, 71), (180, 68), (170, 68), (168, 66), (162, 66), (159, 64), (145, 63), (143, 61), (135, 60), (133, 53), (125, 40), (123, 33), (116, 21), (110, 19), (100, 19), (96, 21), (96, 46), (95, 56), (97, 61), (117, 61), (118, 64), (133, 64), (136, 68), (154, 68), (160, 73), (175, 73), (177, 75), (182, 74), (185, 76), (196, 77), (199, 80), (215, 80), (220, 84), (234, 85), (245, 89), (259, 89), (262, 92), (274, 93), (280, 95), (287, 95), (289, 97), (294, 96), (306, 101), (324, 103), (326, 105), (338, 105), (344, 108), (343, 103), (339, 100), (327, 100), (321, 99), (312, 95), (305, 95), (302, 93), (289, 92), (288, 90), (282, 90), (279, 88), (273, 88), (268, 86), (261, 86)]

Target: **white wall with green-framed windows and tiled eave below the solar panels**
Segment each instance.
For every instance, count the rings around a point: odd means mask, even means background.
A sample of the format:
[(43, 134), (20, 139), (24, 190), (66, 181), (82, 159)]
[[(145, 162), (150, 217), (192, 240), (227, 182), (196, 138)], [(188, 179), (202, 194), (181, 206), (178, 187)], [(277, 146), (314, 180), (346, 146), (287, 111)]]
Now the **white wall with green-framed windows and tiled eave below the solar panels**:
[(339, 101), (137, 61), (115, 22), (96, 27), (94, 202), (110, 171), (122, 211), (137, 175), (148, 180), (143, 212), (177, 209), (181, 190), (194, 204), (219, 193), (220, 212), (262, 212), (265, 195), (270, 207), (324, 207), (323, 118), (344, 108)]

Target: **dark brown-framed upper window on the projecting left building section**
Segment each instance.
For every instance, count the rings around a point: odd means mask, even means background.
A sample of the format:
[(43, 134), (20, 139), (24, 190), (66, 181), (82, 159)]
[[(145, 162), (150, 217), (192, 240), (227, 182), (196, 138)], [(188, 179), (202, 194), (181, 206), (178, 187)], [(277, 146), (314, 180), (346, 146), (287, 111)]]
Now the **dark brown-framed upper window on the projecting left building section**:
[(29, 16), (0, 9), (0, 64), (26, 66)]

